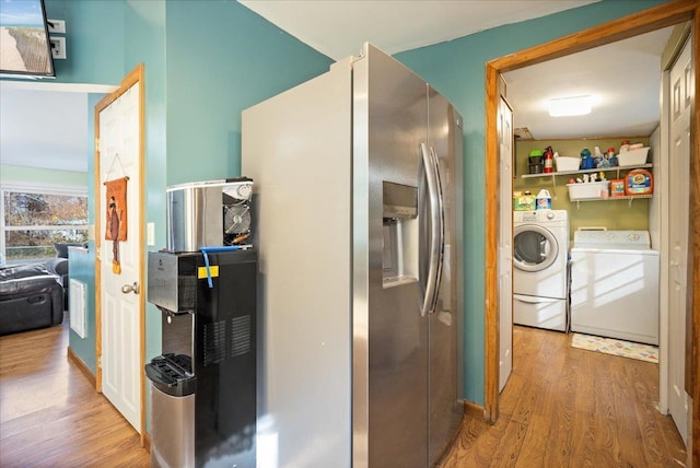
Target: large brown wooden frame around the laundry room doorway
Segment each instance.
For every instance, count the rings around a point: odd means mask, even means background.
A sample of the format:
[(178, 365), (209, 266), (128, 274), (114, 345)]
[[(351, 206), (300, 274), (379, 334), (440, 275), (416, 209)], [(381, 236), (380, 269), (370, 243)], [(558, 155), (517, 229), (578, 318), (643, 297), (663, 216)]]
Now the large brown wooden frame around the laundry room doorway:
[[(486, 65), (486, 359), (485, 359), (485, 418), (495, 421), (499, 417), (499, 296), (498, 296), (498, 233), (500, 200), (495, 196), (499, 188), (499, 147), (498, 147), (498, 100), (501, 73), (540, 63), (571, 54), (587, 50), (612, 42), (626, 39), (651, 31), (672, 26), (686, 21), (691, 22), (692, 57), (696, 70), (700, 63), (700, 7), (697, 0), (673, 0), (668, 3), (634, 13), (598, 26), (591, 27), (547, 44), (535, 46), (508, 55)], [(661, 73), (661, 70), (660, 70)], [(692, 407), (692, 461), (700, 466), (700, 378), (698, 371), (698, 343), (700, 340), (700, 119), (696, 117), (697, 100), (700, 95), (700, 80), (697, 78), (695, 98), (691, 103), (690, 148), (690, 218), (692, 269), (690, 271), (689, 308), (692, 325), (692, 360), (690, 368), (693, 378), (690, 383)], [(696, 292), (693, 294), (693, 291)], [(690, 316), (690, 314), (689, 314)]]

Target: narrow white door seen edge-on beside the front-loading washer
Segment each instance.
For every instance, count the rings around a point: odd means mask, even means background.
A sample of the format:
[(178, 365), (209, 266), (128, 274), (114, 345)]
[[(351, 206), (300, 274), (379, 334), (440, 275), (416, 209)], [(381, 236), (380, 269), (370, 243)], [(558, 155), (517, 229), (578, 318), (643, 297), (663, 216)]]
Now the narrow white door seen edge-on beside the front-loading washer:
[[(512, 200), (513, 110), (504, 98), (499, 103), (500, 197)], [(513, 371), (513, 213), (501, 206), (499, 220), (499, 393)]]

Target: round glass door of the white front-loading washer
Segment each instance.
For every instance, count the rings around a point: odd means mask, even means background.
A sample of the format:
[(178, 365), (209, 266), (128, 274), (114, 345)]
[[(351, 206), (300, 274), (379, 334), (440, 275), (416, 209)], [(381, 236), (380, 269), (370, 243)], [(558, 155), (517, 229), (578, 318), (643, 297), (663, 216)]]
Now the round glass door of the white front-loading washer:
[(515, 227), (513, 266), (522, 271), (541, 271), (555, 262), (559, 244), (555, 235), (542, 226), (530, 224)]

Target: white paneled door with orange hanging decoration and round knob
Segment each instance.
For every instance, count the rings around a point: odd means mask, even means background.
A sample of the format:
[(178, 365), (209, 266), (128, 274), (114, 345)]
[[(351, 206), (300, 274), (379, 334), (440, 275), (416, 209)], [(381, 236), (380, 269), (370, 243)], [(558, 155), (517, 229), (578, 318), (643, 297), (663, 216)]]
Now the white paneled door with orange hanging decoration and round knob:
[[(140, 83), (119, 90), (106, 107), (95, 108), (100, 136), (100, 323), (102, 391), (141, 432), (141, 98)], [(108, 96), (108, 97), (113, 97)], [(118, 206), (127, 237), (115, 246), (105, 239), (110, 200), (105, 182), (128, 177), (126, 207)], [(114, 222), (114, 221), (113, 221)], [(117, 266), (118, 262), (118, 266)], [(100, 351), (100, 350), (98, 350)], [(100, 354), (98, 354), (100, 355)]]

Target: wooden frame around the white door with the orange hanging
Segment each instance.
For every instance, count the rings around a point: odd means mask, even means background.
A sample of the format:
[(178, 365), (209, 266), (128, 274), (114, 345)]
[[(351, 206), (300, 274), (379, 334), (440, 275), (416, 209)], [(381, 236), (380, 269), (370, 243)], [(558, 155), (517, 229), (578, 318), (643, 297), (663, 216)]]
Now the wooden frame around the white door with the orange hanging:
[[(95, 106), (95, 125), (94, 125), (94, 133), (95, 133), (95, 154), (94, 154), (94, 187), (95, 187), (95, 389), (98, 393), (102, 393), (102, 258), (101, 258), (101, 248), (103, 242), (103, 200), (100, 195), (100, 187), (102, 183), (100, 182), (100, 113), (104, 110), (109, 104), (114, 103), (118, 100), (124, 93), (126, 93), (131, 86), (135, 84), (139, 84), (139, 171), (141, 172), (141, 184), (137, 189), (139, 190), (139, 199), (144, 200), (144, 108), (145, 108), (145, 98), (144, 98), (144, 89), (145, 84), (143, 82), (144, 75), (144, 66), (143, 63), (139, 63), (129, 74), (127, 74), (119, 84), (119, 89), (114, 91), (110, 94), (107, 94), (103, 97), (97, 105)], [(141, 223), (140, 229), (136, 233), (135, 241), (141, 246), (145, 245), (145, 207), (139, 208), (141, 211)], [(130, 231), (130, 230), (129, 230)], [(139, 284), (141, 288), (145, 284), (145, 268), (144, 262), (141, 259), (139, 261)], [(139, 294), (139, 368), (143, 368), (145, 361), (145, 295), (143, 293)], [(140, 437), (141, 437), (141, 446), (145, 444), (145, 375), (143, 372), (139, 372), (139, 388), (140, 388), (140, 400), (141, 400), (141, 410), (140, 410)]]

